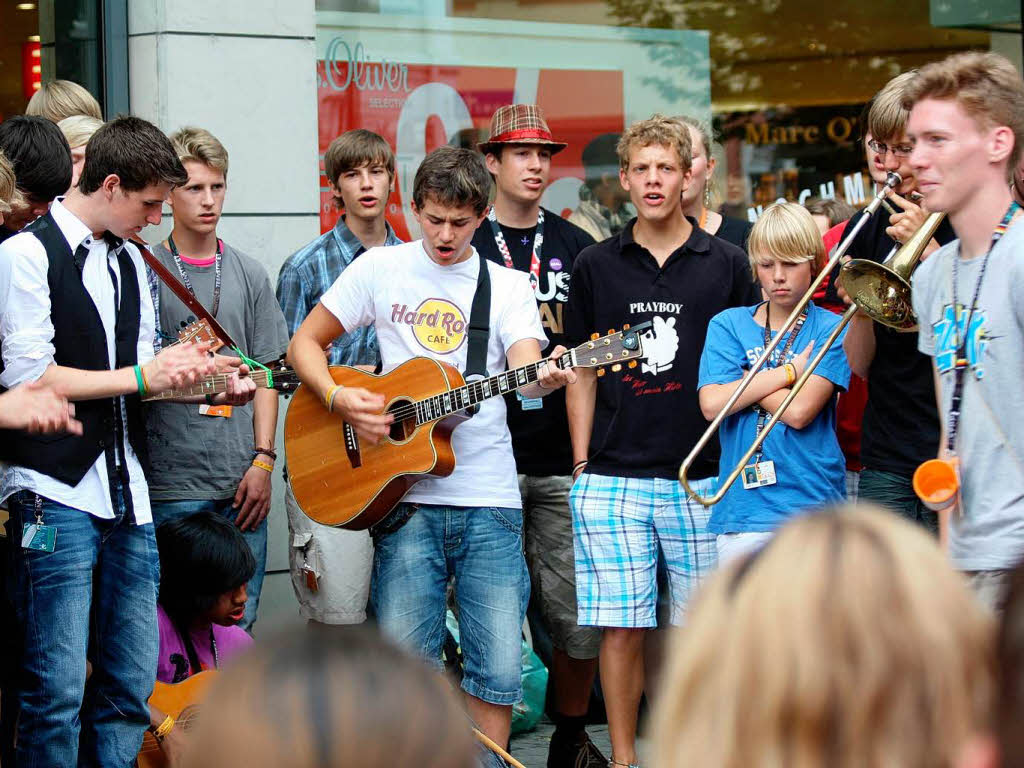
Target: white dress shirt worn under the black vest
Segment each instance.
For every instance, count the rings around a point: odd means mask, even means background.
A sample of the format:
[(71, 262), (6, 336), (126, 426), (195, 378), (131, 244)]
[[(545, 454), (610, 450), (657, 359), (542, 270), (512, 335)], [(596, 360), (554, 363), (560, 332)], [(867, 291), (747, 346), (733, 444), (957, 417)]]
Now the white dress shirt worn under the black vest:
[[(68, 240), (72, 253), (80, 245), (89, 249), (82, 269), (82, 283), (92, 298), (106, 334), (106, 353), (110, 366), (116, 365), (115, 325), (117, 308), (114, 305), (115, 289), (108, 265), (116, 280), (121, 280), (118, 252), (102, 239), (96, 240), (92, 231), (75, 214), (54, 201), (50, 213), (60, 232)], [(123, 246), (131, 256), (138, 279), (138, 298), (141, 310), (138, 328), (138, 362), (153, 358), (153, 338), (156, 319), (153, 298), (146, 282), (145, 264), (138, 250), (130, 243)], [(39, 379), (53, 360), (53, 324), (50, 319), (50, 288), (46, 279), (49, 260), (39, 239), (31, 232), (19, 232), (0, 244), (0, 343), (4, 371), (0, 385), (13, 387), (26, 381)], [(123, 296), (120, 285), (118, 296)], [(119, 398), (122, 416), (124, 398)], [(150, 492), (142, 467), (128, 439), (124, 425), (124, 461), (130, 478), (129, 492), (139, 524), (151, 522)], [(109, 447), (108, 451), (115, 449)], [(120, 458), (120, 457), (119, 457)], [(49, 475), (35, 470), (8, 465), (0, 482), (0, 500), (18, 490), (31, 490), (68, 507), (80, 509), (103, 519), (114, 517), (111, 503), (110, 481), (106, 475), (106, 457), (100, 454), (95, 464), (77, 485), (68, 485)]]

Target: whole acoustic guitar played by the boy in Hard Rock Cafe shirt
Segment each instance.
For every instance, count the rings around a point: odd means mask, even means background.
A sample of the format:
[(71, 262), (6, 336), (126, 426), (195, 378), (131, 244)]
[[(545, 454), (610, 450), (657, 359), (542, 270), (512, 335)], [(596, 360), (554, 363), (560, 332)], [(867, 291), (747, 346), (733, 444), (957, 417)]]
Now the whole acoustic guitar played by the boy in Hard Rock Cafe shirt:
[[(650, 323), (593, 338), (565, 352), (561, 369), (636, 366), (643, 355), (642, 334)], [(596, 337), (596, 334), (595, 334)], [(522, 368), (471, 381), (454, 366), (413, 357), (377, 376), (348, 366), (332, 366), (335, 383), (384, 395), (394, 416), (390, 432), (376, 445), (308, 387), (300, 386), (285, 419), (285, 452), (292, 492), (302, 511), (324, 525), (362, 530), (382, 520), (425, 477), (446, 477), (455, 469), (452, 433), (467, 411), (537, 381), (540, 359)], [(604, 370), (599, 370), (603, 375)]]

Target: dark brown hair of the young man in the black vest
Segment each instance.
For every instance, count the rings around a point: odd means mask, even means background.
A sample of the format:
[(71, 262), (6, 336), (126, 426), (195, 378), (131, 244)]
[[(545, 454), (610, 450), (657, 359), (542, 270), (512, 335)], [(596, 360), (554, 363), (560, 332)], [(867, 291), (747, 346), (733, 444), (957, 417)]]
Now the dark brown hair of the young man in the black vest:
[(121, 179), (125, 191), (159, 183), (181, 186), (188, 181), (170, 139), (153, 123), (131, 116), (115, 118), (92, 134), (78, 188), (91, 195), (112, 174)]

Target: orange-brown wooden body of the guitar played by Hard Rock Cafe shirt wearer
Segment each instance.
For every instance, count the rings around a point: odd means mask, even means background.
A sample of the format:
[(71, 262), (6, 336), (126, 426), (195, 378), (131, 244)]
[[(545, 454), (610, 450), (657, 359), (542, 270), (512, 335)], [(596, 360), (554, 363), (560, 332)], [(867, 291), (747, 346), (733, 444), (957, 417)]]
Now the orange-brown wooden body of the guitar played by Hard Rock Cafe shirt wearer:
[[(332, 366), (331, 375), (343, 386), (383, 394), (387, 411), (465, 383), (456, 368), (428, 357), (414, 357), (382, 376), (348, 366)], [(366, 529), (387, 516), (423, 478), (452, 474), (452, 431), (467, 418), (457, 413), (420, 427), (412, 419), (396, 421), (390, 435), (376, 445), (359, 438), (353, 457), (346, 447), (341, 416), (329, 413), (312, 390), (300, 386), (285, 419), (295, 500), (318, 523)]]

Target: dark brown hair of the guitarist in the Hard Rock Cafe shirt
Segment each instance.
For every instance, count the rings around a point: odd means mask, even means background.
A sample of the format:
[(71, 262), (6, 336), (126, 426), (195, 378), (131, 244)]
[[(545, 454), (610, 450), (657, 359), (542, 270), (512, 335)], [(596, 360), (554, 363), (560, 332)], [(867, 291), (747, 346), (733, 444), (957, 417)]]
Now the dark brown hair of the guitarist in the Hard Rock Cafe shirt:
[(471, 206), (479, 216), (487, 209), (490, 174), (483, 156), (471, 150), (441, 146), (420, 164), (413, 182), (413, 202), (422, 209), (430, 198), (449, 208)]

